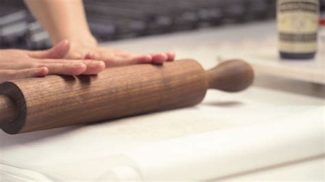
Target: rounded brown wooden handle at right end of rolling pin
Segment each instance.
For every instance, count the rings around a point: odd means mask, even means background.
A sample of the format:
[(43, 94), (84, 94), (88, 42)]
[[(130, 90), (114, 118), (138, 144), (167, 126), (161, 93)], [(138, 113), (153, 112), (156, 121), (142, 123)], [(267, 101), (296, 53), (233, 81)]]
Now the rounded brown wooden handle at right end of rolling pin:
[(243, 60), (223, 62), (206, 72), (208, 74), (208, 88), (226, 92), (245, 90), (254, 79), (252, 66)]

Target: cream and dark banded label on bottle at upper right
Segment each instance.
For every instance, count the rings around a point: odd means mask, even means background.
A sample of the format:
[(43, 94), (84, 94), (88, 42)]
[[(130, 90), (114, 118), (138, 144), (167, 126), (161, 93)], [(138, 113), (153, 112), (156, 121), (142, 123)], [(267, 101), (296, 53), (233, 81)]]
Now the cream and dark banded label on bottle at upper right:
[(278, 47), (287, 53), (317, 50), (318, 0), (278, 0)]

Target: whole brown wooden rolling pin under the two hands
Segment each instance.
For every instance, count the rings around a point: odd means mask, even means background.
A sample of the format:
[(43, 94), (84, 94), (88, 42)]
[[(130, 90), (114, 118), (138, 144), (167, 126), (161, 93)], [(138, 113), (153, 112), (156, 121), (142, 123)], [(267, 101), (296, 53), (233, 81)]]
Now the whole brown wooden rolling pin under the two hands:
[(7, 81), (0, 84), (0, 128), (16, 134), (188, 107), (200, 103), (208, 88), (241, 91), (253, 75), (241, 60), (207, 71), (194, 60), (180, 60), (94, 76)]

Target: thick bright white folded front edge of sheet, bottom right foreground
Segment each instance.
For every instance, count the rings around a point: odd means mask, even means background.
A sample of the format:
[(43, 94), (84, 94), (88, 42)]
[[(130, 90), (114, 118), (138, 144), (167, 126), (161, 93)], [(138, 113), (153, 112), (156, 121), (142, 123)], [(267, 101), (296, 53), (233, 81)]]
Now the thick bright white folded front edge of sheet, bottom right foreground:
[[(124, 155), (137, 164), (132, 166), (136, 177), (150, 181), (220, 179), (283, 161), (324, 157), (320, 117), (324, 111), (325, 107), (320, 107), (267, 124), (157, 142)], [(312, 120), (313, 125), (306, 120)], [(134, 179), (128, 174), (123, 177)]]

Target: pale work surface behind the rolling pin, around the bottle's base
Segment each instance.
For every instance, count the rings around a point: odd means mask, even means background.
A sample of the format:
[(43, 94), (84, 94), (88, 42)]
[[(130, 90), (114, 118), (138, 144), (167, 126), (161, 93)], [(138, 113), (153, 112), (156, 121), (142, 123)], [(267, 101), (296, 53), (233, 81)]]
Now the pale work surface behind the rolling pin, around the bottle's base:
[(256, 70), (269, 75), (325, 84), (324, 42), (323, 45), (320, 44), (313, 60), (280, 60), (274, 21), (252, 26), (204, 29), (200, 34), (187, 32), (167, 38), (146, 38), (141, 47), (129, 40), (125, 44), (112, 44), (112, 47), (116, 45), (139, 52), (146, 50), (145, 48), (156, 51), (173, 50), (182, 58), (191, 57), (203, 63), (210, 61), (210, 64), (205, 64), (207, 68), (213, 66), (212, 60), (240, 57), (250, 62)]

